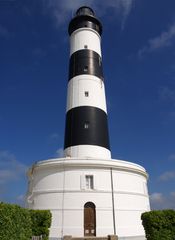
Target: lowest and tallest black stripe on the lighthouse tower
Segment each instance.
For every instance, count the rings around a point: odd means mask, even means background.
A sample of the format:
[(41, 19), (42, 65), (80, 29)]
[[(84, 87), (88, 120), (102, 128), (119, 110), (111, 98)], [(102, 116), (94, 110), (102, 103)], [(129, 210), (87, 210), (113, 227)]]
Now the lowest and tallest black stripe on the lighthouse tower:
[(77, 145), (97, 145), (110, 149), (107, 114), (103, 110), (82, 106), (67, 112), (64, 148)]

